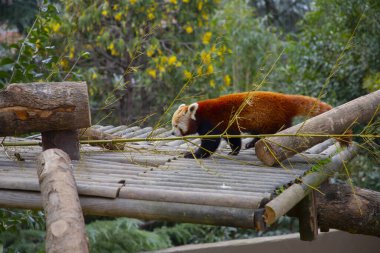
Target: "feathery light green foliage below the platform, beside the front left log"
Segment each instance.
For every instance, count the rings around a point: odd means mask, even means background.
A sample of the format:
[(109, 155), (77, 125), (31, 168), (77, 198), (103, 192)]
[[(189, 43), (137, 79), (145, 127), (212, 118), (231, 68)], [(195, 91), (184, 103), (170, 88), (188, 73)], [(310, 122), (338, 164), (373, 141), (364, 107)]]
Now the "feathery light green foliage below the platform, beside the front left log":
[(141, 221), (120, 218), (87, 226), (91, 252), (138, 252), (167, 248), (167, 236), (138, 228)]

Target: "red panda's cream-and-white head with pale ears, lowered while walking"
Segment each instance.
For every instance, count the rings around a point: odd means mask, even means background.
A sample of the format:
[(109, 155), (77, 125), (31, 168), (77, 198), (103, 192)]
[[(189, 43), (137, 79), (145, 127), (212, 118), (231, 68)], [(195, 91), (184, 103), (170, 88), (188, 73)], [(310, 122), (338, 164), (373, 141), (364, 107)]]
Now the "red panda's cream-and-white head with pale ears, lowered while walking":
[(195, 113), (198, 110), (198, 103), (189, 106), (182, 104), (173, 114), (172, 127), (175, 136), (195, 134), (197, 132), (197, 122)]

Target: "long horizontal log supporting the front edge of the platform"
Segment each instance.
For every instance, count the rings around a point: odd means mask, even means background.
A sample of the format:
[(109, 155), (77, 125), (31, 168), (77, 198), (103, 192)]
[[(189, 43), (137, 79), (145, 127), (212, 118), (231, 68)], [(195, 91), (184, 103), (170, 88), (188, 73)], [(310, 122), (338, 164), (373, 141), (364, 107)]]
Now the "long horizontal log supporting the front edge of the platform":
[[(41, 209), (41, 201), (38, 193), (0, 189), (0, 207)], [(88, 215), (254, 228), (252, 209), (94, 197), (81, 197), (80, 203)]]

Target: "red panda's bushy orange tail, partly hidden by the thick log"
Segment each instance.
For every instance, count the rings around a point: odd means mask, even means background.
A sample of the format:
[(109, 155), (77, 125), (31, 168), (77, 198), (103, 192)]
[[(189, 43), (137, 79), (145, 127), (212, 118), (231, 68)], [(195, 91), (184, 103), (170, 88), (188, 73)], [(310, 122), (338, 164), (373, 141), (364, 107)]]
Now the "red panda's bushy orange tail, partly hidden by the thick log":
[[(316, 98), (301, 96), (301, 95), (291, 95), (291, 104), (295, 110), (295, 116), (306, 116), (314, 117), (324, 112), (331, 110), (333, 107), (329, 104), (326, 104)], [(352, 130), (348, 129), (344, 134), (352, 134)], [(336, 138), (336, 140), (342, 146), (348, 146), (352, 138), (350, 136), (343, 136)]]

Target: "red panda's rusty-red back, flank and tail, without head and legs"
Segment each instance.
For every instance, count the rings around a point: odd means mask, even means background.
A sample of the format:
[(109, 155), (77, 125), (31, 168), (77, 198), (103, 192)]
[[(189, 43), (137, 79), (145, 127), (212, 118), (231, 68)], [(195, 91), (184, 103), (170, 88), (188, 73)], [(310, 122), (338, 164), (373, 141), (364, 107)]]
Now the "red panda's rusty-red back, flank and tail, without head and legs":
[(315, 98), (301, 95), (286, 95), (275, 92), (256, 91), (236, 93), (198, 102), (197, 121), (208, 121), (224, 131), (239, 107), (244, 106), (229, 132), (275, 133), (289, 127), (296, 116), (315, 116), (332, 107)]

